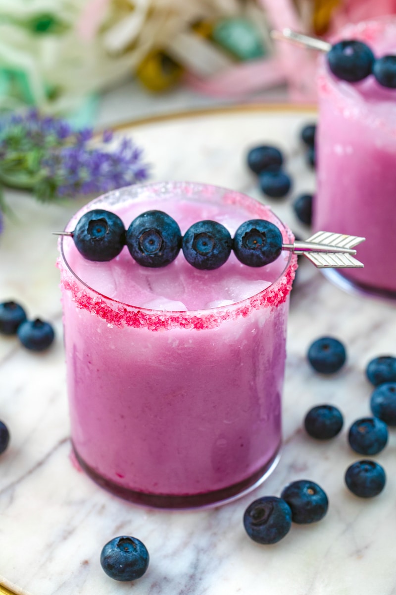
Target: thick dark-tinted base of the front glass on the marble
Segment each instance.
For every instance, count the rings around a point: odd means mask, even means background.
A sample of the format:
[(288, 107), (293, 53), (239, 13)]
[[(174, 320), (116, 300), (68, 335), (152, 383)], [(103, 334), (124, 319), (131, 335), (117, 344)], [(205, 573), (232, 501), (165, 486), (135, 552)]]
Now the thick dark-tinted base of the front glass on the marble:
[(186, 496), (172, 496), (168, 494), (146, 494), (141, 491), (129, 490), (114, 481), (107, 480), (99, 475), (94, 469), (85, 463), (85, 461), (78, 454), (74, 448), (74, 455), (78, 464), (85, 471), (85, 473), (100, 487), (119, 496), (123, 500), (128, 500), (135, 504), (142, 506), (150, 506), (153, 508), (169, 508), (169, 509), (188, 509), (188, 508), (210, 508), (213, 506), (223, 505), (232, 502), (237, 498), (245, 496), (250, 491), (258, 487), (267, 477), (274, 471), (280, 459), (280, 448), (275, 453), (274, 457), (264, 467), (256, 471), (246, 480), (239, 481), (239, 483), (232, 486), (222, 488), (221, 490), (214, 490), (204, 494), (192, 494)]

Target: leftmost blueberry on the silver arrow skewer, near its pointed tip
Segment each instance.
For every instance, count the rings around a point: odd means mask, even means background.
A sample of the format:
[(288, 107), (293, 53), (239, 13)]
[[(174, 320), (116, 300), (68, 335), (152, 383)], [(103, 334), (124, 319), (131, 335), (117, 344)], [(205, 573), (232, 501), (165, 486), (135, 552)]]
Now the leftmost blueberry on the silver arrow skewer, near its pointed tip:
[(125, 228), (115, 213), (93, 209), (78, 220), (73, 239), (84, 258), (105, 262), (121, 252), (125, 245)]

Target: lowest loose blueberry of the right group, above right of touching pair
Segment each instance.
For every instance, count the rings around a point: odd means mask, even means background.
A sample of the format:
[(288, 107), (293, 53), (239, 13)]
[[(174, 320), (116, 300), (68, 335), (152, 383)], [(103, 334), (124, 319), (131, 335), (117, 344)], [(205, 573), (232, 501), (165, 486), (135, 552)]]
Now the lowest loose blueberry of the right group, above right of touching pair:
[(386, 480), (384, 468), (375, 461), (357, 461), (347, 468), (345, 474), (347, 487), (360, 498), (378, 496)]

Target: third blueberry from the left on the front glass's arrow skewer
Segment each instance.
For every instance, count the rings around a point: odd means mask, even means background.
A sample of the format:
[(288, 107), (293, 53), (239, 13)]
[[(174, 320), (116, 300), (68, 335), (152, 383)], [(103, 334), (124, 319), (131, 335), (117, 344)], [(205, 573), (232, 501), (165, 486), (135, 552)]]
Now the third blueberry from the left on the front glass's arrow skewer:
[(186, 261), (193, 267), (213, 270), (226, 262), (232, 250), (230, 232), (216, 221), (198, 221), (188, 228), (182, 241)]

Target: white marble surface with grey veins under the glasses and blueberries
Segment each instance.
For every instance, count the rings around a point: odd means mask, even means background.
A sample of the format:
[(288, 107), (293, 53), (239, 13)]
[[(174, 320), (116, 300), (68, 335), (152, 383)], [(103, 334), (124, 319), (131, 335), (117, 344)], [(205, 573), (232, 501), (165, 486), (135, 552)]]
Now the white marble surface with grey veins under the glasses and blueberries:
[[(242, 190), (261, 198), (244, 165), (246, 148), (277, 142), (287, 152), (295, 187), (275, 211), (299, 233), (290, 203), (312, 190), (297, 133), (308, 112), (248, 110), (145, 124), (131, 130), (152, 162), (153, 179), (190, 179)], [(0, 337), (0, 419), (11, 443), (0, 458), (0, 585), (32, 595), (391, 595), (396, 593), (395, 431), (376, 456), (388, 483), (372, 500), (344, 487), (344, 471), (359, 456), (347, 428), (369, 414), (371, 392), (364, 369), (372, 356), (395, 353), (393, 305), (347, 295), (303, 262), (292, 292), (284, 387), (284, 446), (273, 475), (229, 505), (195, 512), (138, 508), (97, 487), (69, 459), (68, 410), (62, 348), (59, 275), (52, 230), (64, 227), (81, 205), (37, 205), (18, 193), (7, 198), (17, 215), (0, 237), (0, 299), (14, 298), (33, 317), (52, 320), (57, 338), (47, 353), (27, 352)], [(346, 367), (319, 377), (305, 359), (322, 334), (347, 346)], [(311, 406), (340, 406), (345, 427), (337, 439), (317, 443), (302, 430)], [(327, 491), (330, 508), (318, 524), (294, 525), (275, 546), (246, 536), (246, 506), (265, 494), (280, 495), (290, 481), (309, 478)], [(132, 534), (146, 544), (150, 567), (140, 581), (115, 583), (100, 568), (106, 541)], [(0, 588), (1, 593), (1, 588)]]

